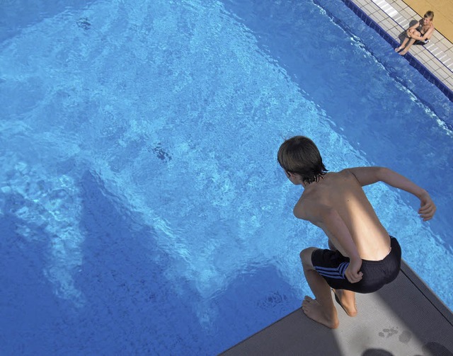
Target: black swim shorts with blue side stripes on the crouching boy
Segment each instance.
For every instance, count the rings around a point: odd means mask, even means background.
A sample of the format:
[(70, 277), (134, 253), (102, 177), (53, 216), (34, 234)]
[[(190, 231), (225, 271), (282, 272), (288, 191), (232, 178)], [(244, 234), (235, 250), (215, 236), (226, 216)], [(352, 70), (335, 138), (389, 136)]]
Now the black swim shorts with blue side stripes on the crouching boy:
[(349, 258), (339, 251), (323, 250), (321, 248), (311, 253), (311, 263), (315, 270), (334, 289), (348, 289), (357, 293), (376, 292), (382, 286), (393, 281), (401, 268), (401, 247), (394, 237), (390, 239), (391, 251), (384, 260), (362, 260), (360, 271), (362, 280), (357, 283), (349, 282), (345, 270)]

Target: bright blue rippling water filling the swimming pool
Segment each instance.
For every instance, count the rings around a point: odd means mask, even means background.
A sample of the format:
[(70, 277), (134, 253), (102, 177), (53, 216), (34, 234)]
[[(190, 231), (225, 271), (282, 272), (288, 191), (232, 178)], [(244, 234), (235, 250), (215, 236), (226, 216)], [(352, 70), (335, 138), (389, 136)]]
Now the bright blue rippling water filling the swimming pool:
[(453, 104), (342, 2), (2, 6), (2, 352), (215, 355), (297, 309), (326, 239), (292, 217), (294, 134), (430, 191), (423, 223), (367, 188), (453, 307)]

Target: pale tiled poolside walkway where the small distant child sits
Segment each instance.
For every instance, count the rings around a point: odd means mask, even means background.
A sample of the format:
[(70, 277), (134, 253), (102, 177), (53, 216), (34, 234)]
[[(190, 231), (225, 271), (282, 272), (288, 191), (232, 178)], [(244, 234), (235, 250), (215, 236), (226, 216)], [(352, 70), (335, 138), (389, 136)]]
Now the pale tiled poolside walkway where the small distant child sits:
[[(442, 16), (447, 19), (453, 17), (453, 1), (438, 0), (439, 3), (444, 2), (445, 8), (449, 12), (448, 16)], [(345, 3), (351, 7), (351, 4), (360, 8), (369, 18), (372, 19), (379, 28), (378, 32), (385, 37), (389, 35), (398, 45), (402, 42), (404, 31), (413, 25), (415, 21), (420, 20), (423, 13), (416, 13), (413, 8), (408, 6), (410, 3), (418, 3), (415, 0), (346, 0)], [(429, 2), (429, 1), (425, 1)], [(408, 3), (408, 4), (406, 4)], [(427, 8), (425, 11), (428, 11)], [(357, 13), (358, 14), (358, 13)], [(436, 25), (436, 14), (434, 17), (434, 23)], [(446, 22), (444, 25), (445, 33), (453, 33), (450, 31), (449, 23)], [(382, 30), (385, 33), (382, 33)], [(389, 40), (387, 38), (387, 40)], [(453, 43), (452, 38), (446, 38), (440, 33), (437, 28), (430, 42), (427, 45), (413, 45), (410, 52), (406, 54), (408, 61), (417, 69), (419, 69), (423, 75), (428, 79), (438, 79), (440, 83), (445, 84), (445, 88), (441, 85), (437, 85), (442, 91), (453, 101)], [(396, 47), (396, 46), (395, 46)], [(426, 70), (434, 76), (430, 78)]]

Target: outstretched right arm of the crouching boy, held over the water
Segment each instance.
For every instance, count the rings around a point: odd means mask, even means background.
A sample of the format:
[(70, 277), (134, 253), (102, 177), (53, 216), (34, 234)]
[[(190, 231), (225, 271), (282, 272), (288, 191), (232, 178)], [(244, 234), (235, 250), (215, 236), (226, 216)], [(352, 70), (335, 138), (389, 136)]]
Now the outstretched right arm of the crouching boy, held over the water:
[(415, 183), (408, 180), (408, 178), (401, 176), (401, 174), (384, 167), (358, 167), (349, 168), (348, 171), (352, 173), (360, 185), (369, 185), (377, 182), (384, 182), (394, 188), (405, 190), (408, 193), (415, 195), (420, 199), (420, 209), (418, 214), (423, 217), (423, 221), (432, 219), (436, 212), (436, 206), (428, 192), (420, 188)]

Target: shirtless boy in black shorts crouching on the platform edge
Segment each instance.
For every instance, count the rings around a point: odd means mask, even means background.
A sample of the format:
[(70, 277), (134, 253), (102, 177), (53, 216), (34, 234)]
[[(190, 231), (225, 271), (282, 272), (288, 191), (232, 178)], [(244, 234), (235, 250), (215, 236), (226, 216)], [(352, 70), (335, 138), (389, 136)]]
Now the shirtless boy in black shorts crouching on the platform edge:
[(331, 288), (346, 313), (355, 316), (355, 292), (377, 291), (396, 278), (401, 265), (398, 241), (379, 222), (362, 187), (381, 181), (406, 190), (420, 199), (418, 213), (424, 221), (434, 215), (435, 204), (426, 190), (389, 168), (328, 173), (318, 148), (307, 137), (287, 139), (277, 159), (287, 178), (304, 188), (294, 215), (323, 229), (331, 248), (310, 247), (300, 253), (304, 275), (316, 297), (306, 296), (302, 310), (314, 321), (337, 328)]

